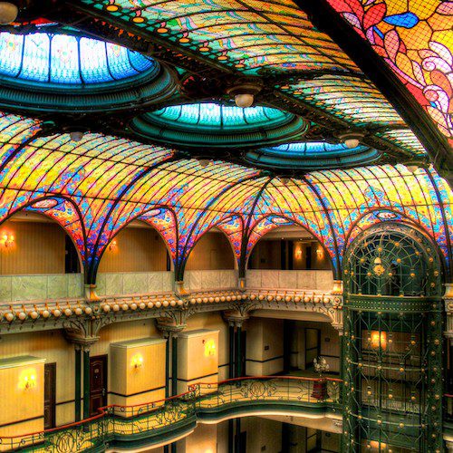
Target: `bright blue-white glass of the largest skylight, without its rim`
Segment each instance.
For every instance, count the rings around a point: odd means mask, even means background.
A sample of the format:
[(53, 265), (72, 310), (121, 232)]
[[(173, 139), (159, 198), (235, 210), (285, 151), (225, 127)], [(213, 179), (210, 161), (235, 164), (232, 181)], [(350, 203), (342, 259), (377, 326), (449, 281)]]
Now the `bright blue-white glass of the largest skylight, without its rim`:
[(72, 34), (0, 33), (0, 77), (62, 88), (130, 79), (154, 69), (151, 58)]

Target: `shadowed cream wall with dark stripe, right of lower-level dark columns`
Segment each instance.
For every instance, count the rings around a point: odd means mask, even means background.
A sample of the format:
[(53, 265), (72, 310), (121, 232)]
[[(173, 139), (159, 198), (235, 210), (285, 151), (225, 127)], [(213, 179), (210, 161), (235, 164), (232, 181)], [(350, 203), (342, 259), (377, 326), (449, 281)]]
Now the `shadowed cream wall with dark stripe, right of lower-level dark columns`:
[(252, 317), (245, 329), (246, 374), (268, 376), (283, 371), (283, 320)]

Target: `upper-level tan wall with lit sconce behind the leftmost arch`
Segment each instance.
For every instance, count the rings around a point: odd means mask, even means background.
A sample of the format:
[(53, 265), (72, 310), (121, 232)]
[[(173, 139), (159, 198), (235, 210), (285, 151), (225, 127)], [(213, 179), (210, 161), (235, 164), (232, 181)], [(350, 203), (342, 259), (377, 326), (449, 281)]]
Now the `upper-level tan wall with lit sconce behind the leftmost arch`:
[(0, 246), (0, 274), (64, 274), (64, 231), (54, 223), (7, 220), (0, 238), (14, 236), (11, 246)]

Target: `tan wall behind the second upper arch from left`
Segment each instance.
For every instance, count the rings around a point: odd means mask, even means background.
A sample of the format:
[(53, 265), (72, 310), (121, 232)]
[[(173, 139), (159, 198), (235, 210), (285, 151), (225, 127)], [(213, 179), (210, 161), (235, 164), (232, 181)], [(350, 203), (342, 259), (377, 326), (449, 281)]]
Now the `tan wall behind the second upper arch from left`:
[(113, 239), (101, 257), (99, 272), (167, 270), (167, 248), (154, 228), (127, 227)]

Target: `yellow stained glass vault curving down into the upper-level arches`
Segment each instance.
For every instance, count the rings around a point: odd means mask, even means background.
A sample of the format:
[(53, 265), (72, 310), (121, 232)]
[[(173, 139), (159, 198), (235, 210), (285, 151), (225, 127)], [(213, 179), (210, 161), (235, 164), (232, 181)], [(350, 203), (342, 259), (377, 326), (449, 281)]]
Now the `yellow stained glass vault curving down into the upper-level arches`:
[[(162, 208), (175, 213), (174, 222), (156, 222), (168, 230), (177, 265), (197, 237), (218, 223), (245, 258), (260, 237), (251, 236), (256, 226), (283, 217), (320, 238), (339, 269), (357, 220), (377, 208), (410, 219), (451, 260), (453, 192), (434, 169), (411, 173), (402, 165), (375, 165), (275, 178), (223, 161), (201, 165), (174, 149), (113, 136), (85, 134), (79, 142), (69, 134), (43, 136), (40, 120), (0, 118), (0, 222), (29, 207), (53, 214), (74, 238), (86, 269), (96, 269), (120, 228)], [(226, 221), (237, 217), (240, 222)]]

